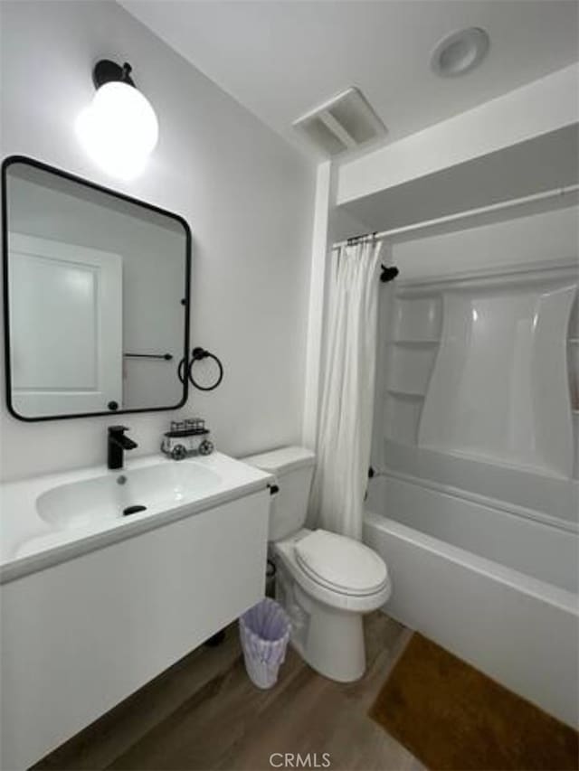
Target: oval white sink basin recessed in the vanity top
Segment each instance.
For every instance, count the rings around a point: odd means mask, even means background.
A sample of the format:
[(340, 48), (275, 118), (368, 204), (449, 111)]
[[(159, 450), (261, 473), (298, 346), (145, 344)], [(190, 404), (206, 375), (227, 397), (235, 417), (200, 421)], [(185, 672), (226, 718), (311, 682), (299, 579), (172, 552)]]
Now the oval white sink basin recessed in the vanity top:
[(195, 461), (159, 463), (61, 484), (36, 500), (39, 516), (57, 528), (156, 513), (210, 494), (219, 474)]

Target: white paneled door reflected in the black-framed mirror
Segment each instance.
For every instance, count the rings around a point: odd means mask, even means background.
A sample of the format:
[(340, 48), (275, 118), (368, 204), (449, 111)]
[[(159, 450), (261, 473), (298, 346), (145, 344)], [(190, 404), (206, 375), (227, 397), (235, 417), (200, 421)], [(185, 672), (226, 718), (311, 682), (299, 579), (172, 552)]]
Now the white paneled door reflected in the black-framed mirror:
[(121, 409), (122, 258), (14, 232), (9, 248), (14, 409)]

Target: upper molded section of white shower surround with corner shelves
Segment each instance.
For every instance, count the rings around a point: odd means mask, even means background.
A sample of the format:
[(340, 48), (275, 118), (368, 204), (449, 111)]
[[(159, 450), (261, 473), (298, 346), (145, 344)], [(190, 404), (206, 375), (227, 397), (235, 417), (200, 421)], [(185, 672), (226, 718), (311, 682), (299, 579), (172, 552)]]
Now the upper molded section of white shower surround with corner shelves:
[(574, 266), (401, 282), (384, 437), (540, 475), (578, 475)]

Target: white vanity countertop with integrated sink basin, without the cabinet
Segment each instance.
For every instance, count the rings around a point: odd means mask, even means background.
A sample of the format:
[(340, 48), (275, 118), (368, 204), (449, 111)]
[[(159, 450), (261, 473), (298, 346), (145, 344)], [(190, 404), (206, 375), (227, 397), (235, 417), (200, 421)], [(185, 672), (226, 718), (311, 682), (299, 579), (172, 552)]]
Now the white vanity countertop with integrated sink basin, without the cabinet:
[(213, 453), (182, 461), (129, 458), (119, 471), (93, 466), (0, 484), (0, 583), (263, 491), (272, 481)]

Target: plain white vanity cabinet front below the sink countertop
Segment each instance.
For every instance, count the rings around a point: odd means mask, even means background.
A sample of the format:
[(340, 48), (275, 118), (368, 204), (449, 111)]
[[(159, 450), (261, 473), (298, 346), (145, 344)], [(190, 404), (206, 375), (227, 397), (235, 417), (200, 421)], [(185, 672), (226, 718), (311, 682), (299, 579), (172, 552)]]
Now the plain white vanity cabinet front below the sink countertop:
[(2, 768), (32, 765), (263, 597), (264, 479), (2, 585)]

